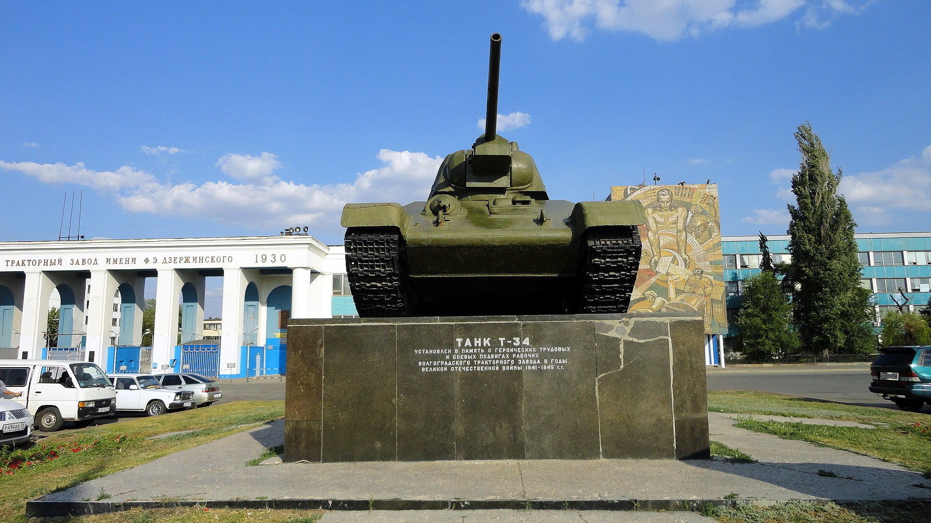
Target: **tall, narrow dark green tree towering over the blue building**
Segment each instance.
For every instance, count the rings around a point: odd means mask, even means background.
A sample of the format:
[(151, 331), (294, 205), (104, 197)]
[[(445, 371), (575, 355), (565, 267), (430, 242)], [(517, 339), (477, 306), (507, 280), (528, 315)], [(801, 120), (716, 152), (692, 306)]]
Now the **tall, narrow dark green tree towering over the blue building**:
[(796, 205), (789, 205), (792, 262), (787, 274), (795, 327), (807, 350), (870, 352), (875, 343), (871, 293), (859, 287), (857, 223), (837, 194), (843, 174), (831, 170), (811, 125), (799, 126), (795, 140), (802, 164), (792, 177)]

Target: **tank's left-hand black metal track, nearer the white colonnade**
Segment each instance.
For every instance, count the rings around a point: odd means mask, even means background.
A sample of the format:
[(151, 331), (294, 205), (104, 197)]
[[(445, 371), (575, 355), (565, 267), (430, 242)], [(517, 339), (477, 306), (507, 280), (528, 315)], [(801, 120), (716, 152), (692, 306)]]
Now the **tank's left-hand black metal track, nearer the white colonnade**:
[(349, 228), (345, 235), (346, 269), (358, 315), (406, 315), (401, 292), (401, 238), (387, 228)]

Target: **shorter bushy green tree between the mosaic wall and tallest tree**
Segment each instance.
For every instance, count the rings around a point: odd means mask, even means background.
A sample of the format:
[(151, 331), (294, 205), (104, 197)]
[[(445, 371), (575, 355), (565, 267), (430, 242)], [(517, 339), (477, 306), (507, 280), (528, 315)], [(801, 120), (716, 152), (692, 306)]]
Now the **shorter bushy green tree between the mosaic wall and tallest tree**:
[(742, 352), (750, 360), (781, 359), (799, 348), (792, 329), (792, 307), (772, 270), (744, 280), (743, 306), (737, 316)]

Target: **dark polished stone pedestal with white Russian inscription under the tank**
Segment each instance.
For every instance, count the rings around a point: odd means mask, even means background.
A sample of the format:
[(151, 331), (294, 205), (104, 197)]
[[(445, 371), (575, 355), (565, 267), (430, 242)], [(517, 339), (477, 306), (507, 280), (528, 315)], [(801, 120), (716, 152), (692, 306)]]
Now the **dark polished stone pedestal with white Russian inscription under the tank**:
[(285, 460), (708, 458), (700, 316), (291, 320)]

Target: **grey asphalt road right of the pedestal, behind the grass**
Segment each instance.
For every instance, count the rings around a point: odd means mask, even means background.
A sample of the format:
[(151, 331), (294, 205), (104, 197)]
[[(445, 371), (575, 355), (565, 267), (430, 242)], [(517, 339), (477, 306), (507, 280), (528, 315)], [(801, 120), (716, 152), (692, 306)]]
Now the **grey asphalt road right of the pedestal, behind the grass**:
[[(887, 399), (867, 389), (870, 368), (817, 367), (808, 369), (709, 369), (708, 390), (762, 391), (790, 396), (813, 397), (867, 407), (897, 409)], [(925, 405), (922, 412), (931, 414)]]

